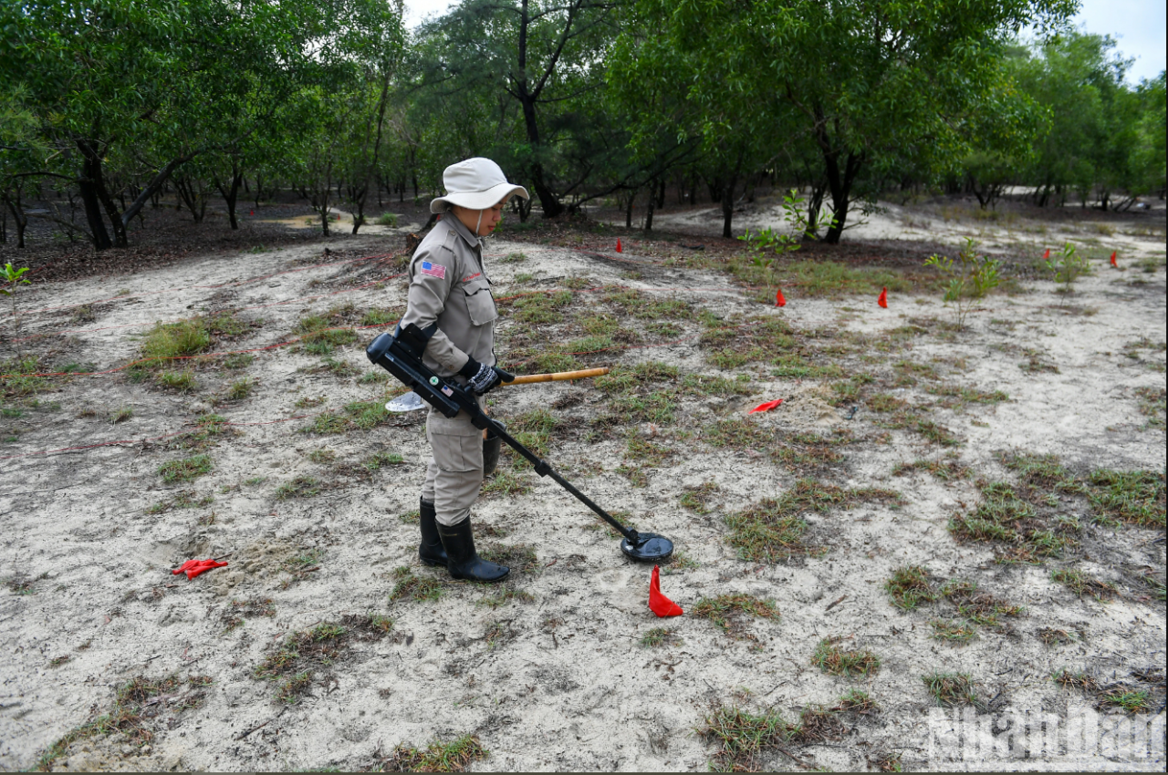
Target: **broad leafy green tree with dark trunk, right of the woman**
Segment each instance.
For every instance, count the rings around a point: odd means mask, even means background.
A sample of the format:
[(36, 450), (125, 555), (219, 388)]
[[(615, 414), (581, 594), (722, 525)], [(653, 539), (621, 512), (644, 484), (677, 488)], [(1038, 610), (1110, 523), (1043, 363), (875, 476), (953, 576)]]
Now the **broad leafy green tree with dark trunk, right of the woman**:
[[(1061, 23), (1075, 0), (638, 0), (640, 13), (700, 74), (689, 99), (707, 121), (746, 102), (795, 117), (822, 161), (839, 242), (865, 172), (938, 168), (964, 155), (964, 131), (1001, 83), (1000, 53), (1021, 26)], [(628, 34), (628, 33), (626, 33)], [(648, 70), (634, 64), (630, 74)], [(656, 77), (672, 78), (670, 72)]]

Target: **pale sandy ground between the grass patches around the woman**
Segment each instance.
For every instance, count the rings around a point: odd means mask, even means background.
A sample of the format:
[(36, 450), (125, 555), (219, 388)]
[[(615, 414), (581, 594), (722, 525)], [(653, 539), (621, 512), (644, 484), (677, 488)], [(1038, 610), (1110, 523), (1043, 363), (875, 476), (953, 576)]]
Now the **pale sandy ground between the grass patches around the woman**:
[[(667, 229), (670, 218), (700, 215), (658, 217)], [(716, 229), (712, 211), (702, 217)], [(766, 217), (755, 222), (765, 224)], [(936, 219), (915, 229), (904, 223), (912, 217), (890, 208), (863, 229), (870, 237), (909, 239), (927, 231), (930, 239), (952, 243), (962, 230), (981, 230), (993, 244), (1040, 239), (1021, 231), (1026, 224), (1015, 231)], [(1069, 232), (1041, 239), (1063, 237), (1084, 238)], [(389, 238), (362, 236), (346, 246), (381, 254), (397, 247)], [(894, 296), (881, 309), (875, 298), (792, 293), (791, 303), (778, 309), (752, 301), (714, 270), (666, 267), (627, 252), (604, 258), (493, 240), (488, 272), (496, 296), (557, 287), (573, 277), (588, 278), (590, 287), (621, 284), (644, 289), (647, 298), (687, 301), (695, 313), (778, 317), (797, 333), (815, 331), (820, 347), (860, 342), (833, 356), (846, 375), (883, 378), (899, 361), (931, 365), (939, 375), (934, 382), (895, 389), (910, 403), (934, 399), (927, 389), (938, 384), (1009, 397), (995, 405), (932, 404), (930, 419), (960, 439), (959, 446), (941, 448), (882, 426), (883, 416), (863, 399), (848, 419), (848, 406), (829, 400), (830, 379), (774, 377), (765, 362), (717, 369), (697, 345), (701, 329), (694, 321), (679, 323), (682, 334), (672, 340), (683, 341), (591, 356), (590, 363), (658, 361), (682, 373), (744, 375), (752, 395), (690, 397), (673, 424), (631, 424), (604, 435), (588, 433), (607, 400), (593, 385), (494, 393), (493, 411), (505, 418), (548, 409), (561, 420), (548, 449), (552, 465), (638, 528), (676, 542), (684, 561), (663, 568), (662, 587), (687, 614), (668, 622), (646, 605), (651, 568), (626, 560), (583, 505), (530, 472), (516, 474), (530, 491), (484, 497), (474, 510), (480, 550), (509, 549), (516, 557), (516, 547), (534, 550), (535, 559), (528, 558), (507, 587), (526, 594), (491, 605), (500, 602), (493, 598), (496, 589), (451, 582), (419, 565), (417, 529), (399, 515), (417, 508), (429, 449), (420, 417), (398, 416), (369, 431), (333, 435), (301, 432), (321, 412), (401, 392), (381, 378), (360, 379), (370, 371), (363, 344), (380, 329), (359, 329), (360, 341), (334, 355), (353, 366), (348, 375), (321, 370), (319, 356), (283, 347), (257, 352), (244, 370), (196, 370), (199, 388), (192, 393), (162, 391), (114, 372), (58, 382), (37, 397), (39, 406), (13, 399), (6, 406), (26, 409), (4, 419), (7, 440), (0, 444), (0, 563), (8, 581), (0, 588), (0, 768), (36, 767), (55, 741), (109, 712), (118, 687), (135, 677), (172, 675), (208, 677), (210, 685), (186, 710), (181, 698), (194, 689), (152, 700), (141, 721), (152, 734), (148, 745), (125, 733), (82, 736), (60, 752), (54, 767), (354, 769), (376, 763), (398, 743), (423, 747), (473, 733), (489, 755), (471, 769), (704, 770), (716, 747), (697, 729), (712, 708), (780, 712), (794, 721), (802, 708), (832, 705), (849, 687), (870, 692), (881, 712), (848, 717), (839, 739), (790, 743), (786, 750), (801, 766), (867, 769), (887, 754), (899, 755), (906, 768), (973, 766), (931, 757), (932, 703), (923, 675), (968, 673), (995, 712), (1066, 714), (1091, 698), (1052, 683), (1052, 671), (1089, 670), (1104, 683), (1164, 664), (1162, 598), (1132, 582), (1132, 568), (1153, 567), (1162, 584), (1162, 530), (1092, 525), (1082, 500), (1069, 498), (1057, 508), (1082, 517), (1080, 546), (1045, 565), (996, 563), (989, 545), (958, 543), (946, 530), (954, 514), (978, 502), (979, 477), (1014, 477), (1001, 452), (1056, 454), (1078, 474), (1101, 467), (1163, 472), (1162, 410), (1160, 427), (1149, 425), (1136, 393), (1164, 386), (1162, 231), (1154, 240), (1122, 233), (1115, 240), (1124, 271), (1094, 261), (1094, 273), (1078, 280), (1073, 294), (1038, 281), (1022, 294), (992, 296), (961, 333), (943, 324), (952, 310), (933, 295)], [(526, 260), (501, 260), (516, 252)], [(1150, 273), (1136, 266), (1146, 257), (1159, 257)], [(319, 247), (298, 247), (36, 286), (23, 295), (25, 309), (40, 310), (25, 315), (23, 335), (51, 336), (25, 347), (56, 348), (56, 363), (103, 371), (133, 359), (155, 321), (244, 309), (241, 319), (262, 323), (225, 345), (242, 350), (286, 341), (297, 320), (340, 303), (401, 310), (404, 286), (394, 264), (314, 266), (322, 261)], [(639, 279), (630, 279), (634, 264)], [(79, 323), (78, 306), (91, 312)], [(569, 310), (612, 308), (603, 294), (579, 293)], [(630, 319), (625, 324), (641, 323)], [(909, 324), (920, 330), (898, 350), (863, 344)], [(514, 307), (508, 307), (500, 324), (505, 364), (515, 326)], [(662, 341), (667, 337), (641, 330), (642, 344)], [(5, 345), (5, 357), (12, 348)], [(1044, 368), (1020, 368), (1030, 357)], [(255, 380), (251, 395), (224, 398), (244, 375)], [(736, 449), (709, 442), (703, 428), (746, 419), (748, 409), (772, 398), (786, 403), (749, 423), (779, 440), (847, 432), (853, 440), (840, 448), (842, 460), (792, 470), (750, 445)], [(112, 424), (111, 414), (121, 407), (132, 407), (132, 417)], [(158, 437), (190, 431), (211, 413), (227, 418), (235, 432), (206, 447), (214, 469), (192, 482), (164, 483), (160, 467), (192, 451), (179, 448), (181, 437)], [(626, 432), (674, 451), (642, 469), (646, 487), (633, 487), (617, 470)], [(116, 440), (135, 441), (41, 454)], [(320, 451), (325, 454), (312, 454)], [(375, 452), (396, 453), (404, 462), (362, 473), (362, 461)], [(943, 481), (923, 472), (892, 473), (898, 463), (945, 461), (946, 454), (972, 476)], [(320, 493), (279, 498), (278, 488), (298, 476), (320, 481)], [(896, 490), (901, 502), (804, 515), (822, 550), (813, 556), (776, 564), (739, 559), (721, 517), (778, 498), (806, 476)], [(684, 488), (707, 482), (718, 488), (710, 512), (683, 508)], [(173, 507), (180, 493), (193, 503), (189, 508), (152, 509)], [(228, 567), (193, 581), (169, 574), (186, 559), (227, 554)], [(1078, 598), (1054, 582), (1051, 568), (1071, 563), (1114, 584), (1118, 596)], [(310, 565), (317, 570), (308, 571)], [(905, 565), (925, 566), (937, 579), (976, 581), (1022, 606), (1023, 614), (1001, 630), (981, 628), (966, 645), (938, 641), (929, 622), (940, 608), (904, 613), (884, 592), (892, 571)], [(437, 581), (442, 598), (391, 602), (401, 566)], [(730, 637), (690, 610), (702, 598), (738, 593), (773, 600), (781, 616), (746, 620), (742, 635)], [(251, 606), (249, 613), (236, 616), (243, 603)], [(253, 677), (290, 635), (370, 613), (391, 617), (391, 631), (354, 637), (328, 664), (312, 668), (311, 687), (299, 703), (279, 703), (276, 684)], [(245, 621), (232, 627), (232, 617)], [(641, 638), (659, 627), (672, 628), (675, 640), (642, 645)], [(1043, 629), (1072, 637), (1047, 644)], [(881, 670), (868, 677), (825, 675), (811, 658), (827, 636), (870, 649)], [(1162, 705), (1160, 718), (1162, 731)], [(1033, 759), (1035, 768), (1050, 766)], [(799, 764), (771, 750), (755, 766)], [(1162, 740), (1150, 759), (1098, 757), (1085, 766), (1162, 771)]]

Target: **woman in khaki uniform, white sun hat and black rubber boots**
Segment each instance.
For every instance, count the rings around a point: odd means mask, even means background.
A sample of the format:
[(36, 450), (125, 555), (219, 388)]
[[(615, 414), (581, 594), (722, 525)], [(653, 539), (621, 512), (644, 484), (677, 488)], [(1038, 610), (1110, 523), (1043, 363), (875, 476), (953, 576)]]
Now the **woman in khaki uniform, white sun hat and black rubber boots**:
[[(446, 196), (431, 202), (430, 211), (447, 215), (410, 260), (401, 324), (413, 323), (429, 336), (426, 366), (468, 386), (481, 404), (481, 396), (500, 382), (494, 352), (499, 312), (482, 261), (482, 237), (495, 230), (510, 196), (529, 197), (489, 159), (451, 165), (443, 183)], [(480, 558), (471, 530), (471, 505), (482, 484), (482, 432), (465, 411), (447, 418), (431, 409), (426, 439), (432, 456), (418, 509), (418, 556), (429, 565), (445, 565), (456, 579), (501, 581), (509, 568)]]

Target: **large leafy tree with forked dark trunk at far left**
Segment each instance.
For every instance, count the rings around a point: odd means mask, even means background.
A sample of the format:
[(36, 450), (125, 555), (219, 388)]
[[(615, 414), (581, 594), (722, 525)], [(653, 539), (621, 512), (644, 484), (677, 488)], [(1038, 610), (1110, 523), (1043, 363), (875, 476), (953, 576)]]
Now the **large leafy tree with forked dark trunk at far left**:
[[(286, 99), (349, 67), (350, 20), (383, 5), (0, 5), (0, 78), (27, 90), (40, 134), (55, 152), (50, 166), (27, 173), (75, 183), (93, 246), (125, 246), (131, 218), (175, 169), (201, 154), (239, 153), (251, 138), (271, 137), (272, 117)], [(111, 169), (120, 188), (111, 188)], [(119, 209), (130, 186), (137, 195)]]

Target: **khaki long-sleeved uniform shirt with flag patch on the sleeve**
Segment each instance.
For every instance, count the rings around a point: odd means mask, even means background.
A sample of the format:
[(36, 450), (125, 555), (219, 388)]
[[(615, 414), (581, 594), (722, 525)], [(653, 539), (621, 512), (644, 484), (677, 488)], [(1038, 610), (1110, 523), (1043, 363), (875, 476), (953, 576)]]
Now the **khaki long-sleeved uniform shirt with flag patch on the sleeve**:
[(495, 365), (499, 310), (482, 265), (482, 246), (454, 214), (445, 214), (418, 245), (409, 277), (402, 326), (438, 323), (422, 362), (444, 377), (456, 375), (467, 357)]

